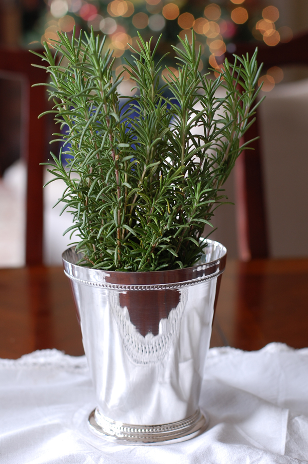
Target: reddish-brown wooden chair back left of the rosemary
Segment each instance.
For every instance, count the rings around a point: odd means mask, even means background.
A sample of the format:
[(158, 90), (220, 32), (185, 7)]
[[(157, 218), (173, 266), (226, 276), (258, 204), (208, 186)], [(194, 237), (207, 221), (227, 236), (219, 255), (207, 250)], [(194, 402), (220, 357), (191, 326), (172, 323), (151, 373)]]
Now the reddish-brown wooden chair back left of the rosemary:
[[(19, 78), (22, 83), (22, 153), (27, 163), (26, 190), (26, 265), (43, 261), (43, 166), (46, 151), (46, 119), (37, 116), (46, 111), (46, 81), (40, 58), (27, 50), (0, 48), (0, 77)], [(5, 109), (3, 109), (5, 117)]]

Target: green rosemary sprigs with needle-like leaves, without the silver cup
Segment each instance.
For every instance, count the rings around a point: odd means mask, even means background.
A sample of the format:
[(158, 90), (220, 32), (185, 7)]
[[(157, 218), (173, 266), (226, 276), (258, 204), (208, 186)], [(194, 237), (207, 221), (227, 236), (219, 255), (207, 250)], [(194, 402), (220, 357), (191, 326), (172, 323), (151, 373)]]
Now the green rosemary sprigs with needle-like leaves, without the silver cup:
[[(81, 263), (97, 269), (194, 265), (204, 226), (224, 199), (222, 185), (247, 148), (240, 140), (259, 104), (256, 52), (250, 60), (225, 61), (209, 79), (198, 71), (194, 37), (191, 44), (179, 39), (178, 73), (167, 68), (160, 86), (158, 43), (151, 47), (139, 35), (126, 67), (138, 91), (128, 98), (117, 92), (121, 75), (112, 72), (112, 52), (102, 52), (106, 37), (93, 31), (83, 37), (59, 33), (54, 54), (46, 43), (44, 55), (36, 53), (51, 78), (51, 112), (62, 129), (54, 135), (66, 147), (46, 163), (53, 180), (66, 184), (59, 202), (73, 225), (65, 233), (77, 231)], [(223, 98), (216, 96), (219, 87)]]

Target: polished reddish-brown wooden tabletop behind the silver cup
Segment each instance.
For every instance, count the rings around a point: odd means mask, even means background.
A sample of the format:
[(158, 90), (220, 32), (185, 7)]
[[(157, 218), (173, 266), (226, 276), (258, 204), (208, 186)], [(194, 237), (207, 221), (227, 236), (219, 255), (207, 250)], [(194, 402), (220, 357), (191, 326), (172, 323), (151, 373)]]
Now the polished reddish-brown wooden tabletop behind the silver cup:
[[(229, 261), (211, 346), (308, 346), (308, 259)], [(44, 348), (81, 355), (69, 282), (60, 267), (0, 270), (0, 358)]]

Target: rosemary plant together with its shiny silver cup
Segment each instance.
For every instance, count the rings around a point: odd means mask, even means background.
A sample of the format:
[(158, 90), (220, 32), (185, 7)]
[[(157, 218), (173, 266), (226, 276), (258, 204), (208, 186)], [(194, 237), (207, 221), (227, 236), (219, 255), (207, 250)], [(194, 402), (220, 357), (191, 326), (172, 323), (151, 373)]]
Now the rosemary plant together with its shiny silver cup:
[(260, 68), (256, 53), (236, 57), (210, 79), (193, 36), (160, 85), (158, 43), (139, 35), (125, 68), (138, 92), (125, 98), (105, 39), (59, 33), (40, 55), (64, 141), (47, 165), (66, 184), (66, 233), (80, 238), (63, 259), (99, 404), (89, 421), (109, 440), (172, 442), (206, 424), (198, 401), (226, 250), (202, 234), (247, 147)]

